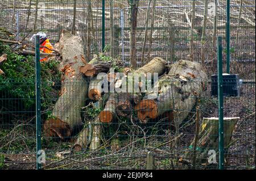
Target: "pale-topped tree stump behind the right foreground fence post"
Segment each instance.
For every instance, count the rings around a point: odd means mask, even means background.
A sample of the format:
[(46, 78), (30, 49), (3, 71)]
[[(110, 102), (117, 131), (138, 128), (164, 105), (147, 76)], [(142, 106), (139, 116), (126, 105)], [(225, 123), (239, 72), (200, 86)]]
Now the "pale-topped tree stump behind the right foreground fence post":
[[(230, 141), (233, 132), (236, 128), (237, 121), (240, 117), (224, 117), (224, 149), (230, 146)], [(208, 151), (214, 150), (218, 153), (218, 117), (204, 117), (201, 123), (199, 134), (197, 136), (199, 140), (196, 144), (196, 161), (199, 166), (208, 166)], [(195, 138), (189, 146), (189, 150), (186, 153), (187, 158), (193, 156), (193, 146), (195, 145)], [(194, 155), (195, 156), (195, 155)], [(216, 157), (218, 159), (218, 157)], [(191, 162), (192, 163), (192, 162)], [(215, 164), (217, 169), (217, 164)], [(212, 167), (212, 166), (211, 166)]]

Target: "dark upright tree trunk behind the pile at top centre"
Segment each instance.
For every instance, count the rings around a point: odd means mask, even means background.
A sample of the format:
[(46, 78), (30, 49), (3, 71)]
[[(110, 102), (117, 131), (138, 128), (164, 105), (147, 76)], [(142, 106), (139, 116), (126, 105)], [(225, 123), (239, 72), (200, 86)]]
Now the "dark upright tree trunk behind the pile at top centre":
[(136, 61), (136, 28), (139, 0), (130, 0), (131, 6), (131, 32), (130, 32), (130, 65), (131, 68), (137, 68)]

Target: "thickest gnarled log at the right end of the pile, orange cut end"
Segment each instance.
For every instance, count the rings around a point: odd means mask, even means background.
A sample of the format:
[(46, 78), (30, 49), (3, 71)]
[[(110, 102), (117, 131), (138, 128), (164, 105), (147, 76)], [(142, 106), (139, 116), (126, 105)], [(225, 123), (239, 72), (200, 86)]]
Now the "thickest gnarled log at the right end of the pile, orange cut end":
[(180, 60), (171, 66), (167, 76), (160, 78), (161, 86), (157, 98), (146, 98), (135, 106), (142, 123), (155, 119), (164, 112), (172, 111), (176, 132), (180, 123), (192, 110), (197, 96), (204, 91), (207, 74), (196, 62)]

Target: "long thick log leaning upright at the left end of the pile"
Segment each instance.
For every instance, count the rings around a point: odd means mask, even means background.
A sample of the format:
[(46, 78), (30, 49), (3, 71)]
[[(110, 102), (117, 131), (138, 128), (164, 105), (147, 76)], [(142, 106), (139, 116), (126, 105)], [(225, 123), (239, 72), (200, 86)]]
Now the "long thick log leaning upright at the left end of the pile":
[(64, 30), (59, 47), (63, 58), (59, 69), (64, 72), (64, 79), (60, 97), (52, 111), (55, 118), (46, 120), (43, 128), (47, 137), (63, 139), (71, 136), (73, 129), (82, 125), (80, 109), (85, 106), (88, 84), (79, 71), (85, 62), (81, 38)]

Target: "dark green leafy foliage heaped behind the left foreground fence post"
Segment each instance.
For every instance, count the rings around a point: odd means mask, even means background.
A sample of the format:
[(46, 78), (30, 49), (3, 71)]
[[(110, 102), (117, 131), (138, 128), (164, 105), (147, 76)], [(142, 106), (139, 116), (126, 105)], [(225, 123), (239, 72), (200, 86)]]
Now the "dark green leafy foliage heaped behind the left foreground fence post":
[[(32, 56), (15, 53), (8, 45), (0, 43), (0, 55), (6, 53), (7, 60), (1, 65), (5, 74), (0, 75), (0, 92), (6, 98), (21, 98), (24, 108), (35, 105), (35, 60)], [(49, 106), (50, 93), (55, 79), (60, 78), (56, 61), (41, 63), (42, 107)]]

